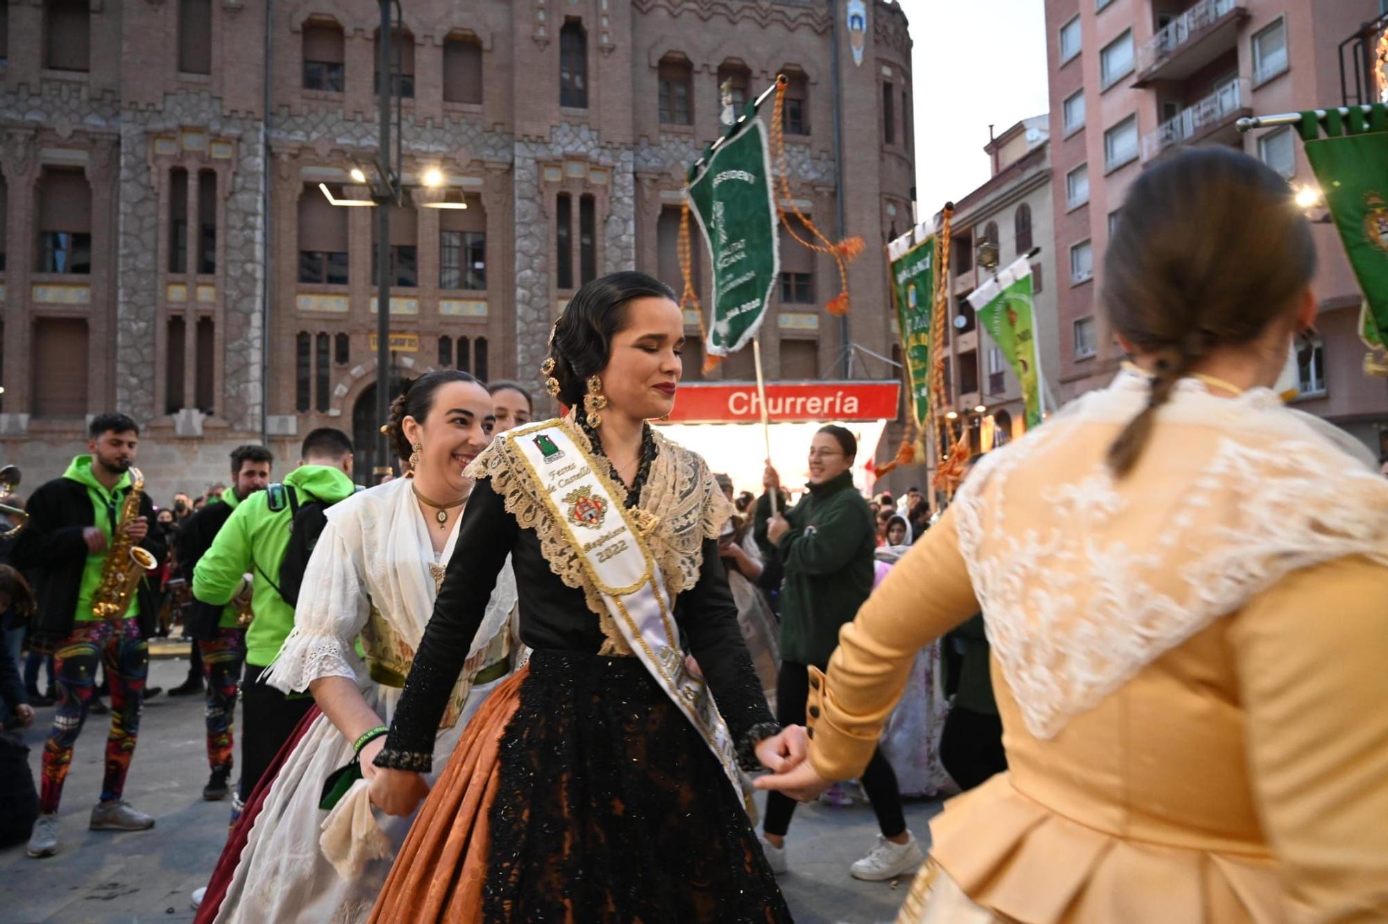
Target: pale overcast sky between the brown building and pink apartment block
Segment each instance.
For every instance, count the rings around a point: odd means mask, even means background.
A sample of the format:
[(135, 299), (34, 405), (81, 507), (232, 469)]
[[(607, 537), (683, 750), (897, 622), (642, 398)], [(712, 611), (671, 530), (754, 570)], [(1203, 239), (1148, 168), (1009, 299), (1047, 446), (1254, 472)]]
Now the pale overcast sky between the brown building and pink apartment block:
[[(916, 198), (927, 219), (988, 179), (988, 123), (1049, 108), (1042, 0), (899, 0), (911, 22)], [(843, 10), (843, 4), (838, 4)]]

